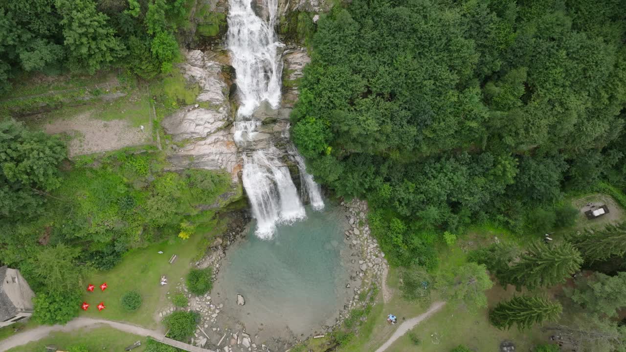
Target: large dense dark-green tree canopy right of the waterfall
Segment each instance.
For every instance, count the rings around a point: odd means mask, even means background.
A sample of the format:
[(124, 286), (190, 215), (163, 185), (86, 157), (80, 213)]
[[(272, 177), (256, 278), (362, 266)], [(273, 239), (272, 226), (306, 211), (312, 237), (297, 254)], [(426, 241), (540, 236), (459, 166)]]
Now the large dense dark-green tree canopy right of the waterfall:
[(563, 190), (620, 160), (626, 3), (588, 3), (355, 0), (321, 17), (292, 137), (316, 180), (381, 210), (392, 264), (432, 263), (441, 227), (564, 225)]

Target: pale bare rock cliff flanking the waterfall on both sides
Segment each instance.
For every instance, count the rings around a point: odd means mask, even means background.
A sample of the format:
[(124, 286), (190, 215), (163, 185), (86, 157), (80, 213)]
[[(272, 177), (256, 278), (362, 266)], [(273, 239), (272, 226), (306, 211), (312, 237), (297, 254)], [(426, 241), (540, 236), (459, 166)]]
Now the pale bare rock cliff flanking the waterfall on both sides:
[[(324, 1), (326, 0), (280, 0), (279, 12), (283, 16), (290, 11), (323, 11), (328, 8)], [(257, 11), (261, 13), (265, 11), (262, 8), (262, 1), (256, 4), (260, 6)], [(208, 9), (210, 15), (207, 15)], [(211, 24), (203, 22), (211, 16), (223, 17), (225, 21), (227, 10), (226, 0), (197, 0), (194, 18), (198, 30), (203, 23), (207, 26)], [(212, 14), (212, 11), (217, 15)], [(222, 29), (218, 32), (222, 33)], [(211, 34), (213, 33), (215, 32)], [(216, 35), (223, 37), (223, 34), (219, 33)], [(200, 87), (200, 93), (193, 105), (183, 106), (165, 117), (161, 125), (175, 142), (169, 156), (173, 168), (227, 170), (233, 180), (239, 180), (243, 160), (233, 139), (237, 97), (233, 93), (236, 90), (230, 78), (232, 72), (230, 56), (228, 51), (222, 49), (222, 37), (215, 43), (213, 50), (191, 50), (185, 53), (187, 60), (179, 66), (179, 69), (188, 83)], [(261, 125), (257, 129), (258, 133), (249, 142), (250, 145), (245, 146), (249, 152), (265, 149), (270, 145), (280, 149), (284, 147), (285, 137), (289, 136), (289, 113), (297, 100), (302, 70), (310, 62), (310, 58), (303, 46), (294, 43), (285, 46), (282, 56), (284, 60), (282, 106), (274, 110), (263, 105), (255, 111), (255, 119), (259, 120)], [(287, 158), (285, 163), (289, 164)], [(297, 167), (294, 167), (294, 170), (297, 170)], [(297, 172), (294, 172), (293, 176), (297, 179)]]

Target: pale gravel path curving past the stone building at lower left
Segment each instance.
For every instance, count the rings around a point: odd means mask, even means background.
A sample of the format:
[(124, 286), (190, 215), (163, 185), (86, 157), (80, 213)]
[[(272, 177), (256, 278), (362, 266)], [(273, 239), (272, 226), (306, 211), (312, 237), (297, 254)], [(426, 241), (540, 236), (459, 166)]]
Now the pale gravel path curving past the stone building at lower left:
[(109, 321), (103, 319), (76, 318), (65, 325), (39, 326), (38, 328), (24, 331), (23, 333), (14, 334), (10, 338), (0, 341), (0, 352), (16, 346), (21, 346), (29, 342), (37, 341), (48, 336), (53, 331), (61, 331), (67, 333), (76, 329), (96, 328), (99, 324), (106, 324), (111, 328), (124, 331), (125, 333), (136, 334), (139, 336), (150, 336), (151, 338), (163, 338), (162, 331), (150, 330), (135, 326), (132, 324), (120, 323), (118, 321)]

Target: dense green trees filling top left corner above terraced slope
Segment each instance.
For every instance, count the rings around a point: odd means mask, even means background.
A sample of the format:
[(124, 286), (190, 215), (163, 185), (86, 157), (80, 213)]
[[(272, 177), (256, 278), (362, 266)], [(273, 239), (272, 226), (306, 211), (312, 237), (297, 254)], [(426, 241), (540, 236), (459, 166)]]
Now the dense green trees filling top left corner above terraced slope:
[(0, 3), (0, 93), (21, 71), (93, 74), (119, 66), (151, 78), (172, 69), (181, 0), (12, 0)]

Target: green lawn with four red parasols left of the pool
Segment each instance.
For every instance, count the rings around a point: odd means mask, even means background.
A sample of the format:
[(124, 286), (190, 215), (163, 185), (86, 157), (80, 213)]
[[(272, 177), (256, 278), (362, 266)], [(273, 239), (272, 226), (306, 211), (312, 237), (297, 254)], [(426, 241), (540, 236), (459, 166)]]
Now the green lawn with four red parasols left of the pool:
[[(81, 311), (81, 316), (128, 321), (146, 328), (159, 328), (158, 311), (169, 304), (167, 292), (175, 291), (177, 282), (183, 281), (190, 269), (190, 262), (204, 252), (206, 241), (196, 234), (183, 241), (175, 238), (171, 241), (153, 244), (135, 249), (125, 254), (120, 264), (110, 271), (96, 272), (86, 279), (86, 284), (93, 284), (93, 293), (87, 292), (83, 299), (91, 304), (88, 311)], [(163, 254), (158, 254), (162, 251)], [(178, 257), (173, 264), (169, 259), (173, 254)], [(168, 284), (161, 286), (160, 277), (165, 275)], [(106, 282), (108, 288), (100, 291), (100, 284)], [(141, 294), (141, 307), (134, 312), (121, 308), (120, 299), (126, 291), (137, 291)], [(98, 312), (96, 306), (104, 302), (106, 308)]]

